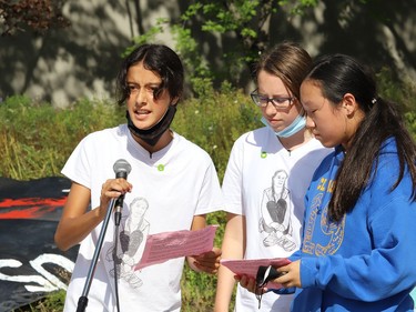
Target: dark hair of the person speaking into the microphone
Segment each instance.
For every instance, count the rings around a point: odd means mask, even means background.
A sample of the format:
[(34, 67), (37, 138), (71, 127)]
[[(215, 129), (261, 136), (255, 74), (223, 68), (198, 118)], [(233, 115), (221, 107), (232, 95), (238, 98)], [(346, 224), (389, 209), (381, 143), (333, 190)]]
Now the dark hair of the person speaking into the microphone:
[(143, 44), (134, 49), (122, 62), (118, 74), (118, 103), (123, 104), (130, 95), (126, 76), (129, 68), (143, 62), (143, 67), (158, 73), (162, 84), (154, 92), (154, 98), (166, 89), (171, 99), (181, 98), (183, 93), (184, 70), (179, 56), (163, 44)]

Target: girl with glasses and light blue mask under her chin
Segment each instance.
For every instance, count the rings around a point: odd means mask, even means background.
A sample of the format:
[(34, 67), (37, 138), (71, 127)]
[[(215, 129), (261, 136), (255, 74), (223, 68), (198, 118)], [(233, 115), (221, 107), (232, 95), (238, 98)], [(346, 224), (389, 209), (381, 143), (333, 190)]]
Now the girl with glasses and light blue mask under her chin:
[[(286, 258), (300, 248), (303, 199), (312, 174), (331, 150), (306, 129), (301, 82), (311, 57), (284, 42), (261, 57), (251, 94), (263, 128), (240, 137), (223, 180), (227, 223), (222, 259)], [(220, 266), (215, 312), (227, 312), (234, 274)], [(287, 311), (291, 295), (264, 294), (260, 311)], [(253, 293), (237, 285), (235, 311), (258, 311)]]

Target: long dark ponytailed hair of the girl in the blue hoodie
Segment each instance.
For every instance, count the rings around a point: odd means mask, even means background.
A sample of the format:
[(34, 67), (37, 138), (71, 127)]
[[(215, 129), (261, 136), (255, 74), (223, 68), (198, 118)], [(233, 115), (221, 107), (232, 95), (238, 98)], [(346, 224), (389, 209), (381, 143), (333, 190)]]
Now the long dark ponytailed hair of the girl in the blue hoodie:
[(352, 93), (365, 113), (337, 172), (329, 217), (339, 221), (355, 207), (372, 178), (373, 165), (377, 170), (379, 150), (387, 138), (395, 139), (399, 161), (398, 178), (392, 190), (400, 183), (407, 165), (413, 180), (412, 200), (415, 201), (416, 144), (397, 105), (377, 95), (371, 69), (344, 54), (327, 56), (314, 64), (306, 80), (317, 82), (324, 98), (333, 105), (341, 103), (345, 93)]

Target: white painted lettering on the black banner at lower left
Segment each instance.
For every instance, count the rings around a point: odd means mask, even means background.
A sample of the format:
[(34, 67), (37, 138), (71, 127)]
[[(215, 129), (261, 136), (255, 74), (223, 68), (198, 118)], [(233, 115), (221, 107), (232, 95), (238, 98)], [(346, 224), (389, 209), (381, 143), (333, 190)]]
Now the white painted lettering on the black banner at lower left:
[[(43, 269), (44, 263), (54, 263), (69, 272), (73, 271), (74, 263), (60, 254), (44, 253), (37, 259), (29, 261), (30, 265), (39, 272), (40, 275), (7, 275), (0, 272), (0, 280), (26, 283), (24, 288), (30, 292), (52, 292), (59, 289), (67, 290), (67, 285), (61, 282), (55, 275)], [(22, 263), (13, 259), (0, 259), (1, 268), (20, 268)], [(30, 285), (28, 283), (37, 283), (39, 286)]]

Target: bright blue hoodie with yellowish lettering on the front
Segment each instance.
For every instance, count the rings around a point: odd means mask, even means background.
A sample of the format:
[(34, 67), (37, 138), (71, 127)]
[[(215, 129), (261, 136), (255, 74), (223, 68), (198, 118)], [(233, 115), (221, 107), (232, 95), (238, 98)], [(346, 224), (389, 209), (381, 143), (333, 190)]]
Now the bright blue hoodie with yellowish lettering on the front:
[[(366, 151), (363, 151), (366, 152)], [(356, 205), (339, 222), (329, 222), (327, 207), (344, 159), (338, 147), (316, 170), (305, 198), (301, 258), (302, 289), (292, 311), (413, 311), (416, 285), (416, 202), (394, 139), (381, 149), (377, 171)]]

